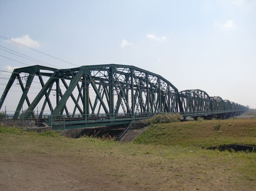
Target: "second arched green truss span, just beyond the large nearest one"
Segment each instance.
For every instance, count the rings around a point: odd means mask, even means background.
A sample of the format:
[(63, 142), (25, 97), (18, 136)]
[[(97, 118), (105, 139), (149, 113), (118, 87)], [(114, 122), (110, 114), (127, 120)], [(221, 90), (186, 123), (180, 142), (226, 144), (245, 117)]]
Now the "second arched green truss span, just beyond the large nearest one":
[(210, 96), (200, 89), (189, 89), (179, 92), (180, 105), (185, 112), (211, 111)]

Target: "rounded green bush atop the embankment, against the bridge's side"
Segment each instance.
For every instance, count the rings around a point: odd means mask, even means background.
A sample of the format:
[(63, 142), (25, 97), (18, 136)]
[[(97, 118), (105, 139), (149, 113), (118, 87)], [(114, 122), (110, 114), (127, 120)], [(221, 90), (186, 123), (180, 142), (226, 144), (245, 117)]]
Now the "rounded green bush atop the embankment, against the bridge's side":
[(161, 113), (152, 116), (148, 119), (149, 124), (160, 124), (160, 123), (170, 123), (178, 122), (182, 118), (182, 115), (179, 113)]

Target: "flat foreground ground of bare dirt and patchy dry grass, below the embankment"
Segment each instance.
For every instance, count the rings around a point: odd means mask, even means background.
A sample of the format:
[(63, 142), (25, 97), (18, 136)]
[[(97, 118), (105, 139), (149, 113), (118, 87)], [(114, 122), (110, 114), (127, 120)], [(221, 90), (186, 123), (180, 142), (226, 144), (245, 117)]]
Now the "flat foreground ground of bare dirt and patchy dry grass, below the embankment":
[(253, 163), (247, 164), (241, 154), (228, 155), (0, 133), (0, 191), (252, 191), (254, 176), (241, 179), (237, 172), (241, 165), (250, 169)]

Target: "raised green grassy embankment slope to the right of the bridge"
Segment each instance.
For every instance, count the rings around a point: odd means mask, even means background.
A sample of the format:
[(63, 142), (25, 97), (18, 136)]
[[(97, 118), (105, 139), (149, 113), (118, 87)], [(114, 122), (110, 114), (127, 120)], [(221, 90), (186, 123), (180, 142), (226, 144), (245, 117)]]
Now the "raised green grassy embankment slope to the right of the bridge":
[(210, 147), (225, 144), (256, 145), (256, 120), (202, 120), (153, 124), (134, 143)]

